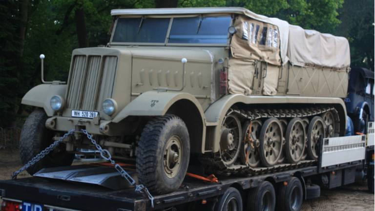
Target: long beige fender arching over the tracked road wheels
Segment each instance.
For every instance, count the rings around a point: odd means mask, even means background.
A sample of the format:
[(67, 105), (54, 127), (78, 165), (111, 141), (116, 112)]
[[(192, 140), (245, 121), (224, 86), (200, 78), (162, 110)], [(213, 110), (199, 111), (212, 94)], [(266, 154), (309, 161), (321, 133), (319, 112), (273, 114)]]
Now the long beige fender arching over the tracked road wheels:
[[(216, 125), (213, 132), (213, 139), (207, 140), (212, 151), (219, 151), (220, 126), (228, 109), (235, 104), (325, 104), (334, 105), (339, 116), (345, 117), (340, 120), (340, 135), (345, 134), (346, 128), (346, 107), (340, 98), (328, 97), (299, 97), (299, 96), (245, 96), (243, 94), (229, 94), (217, 100), (205, 111), (207, 123)], [(219, 127), (218, 127), (219, 126)]]

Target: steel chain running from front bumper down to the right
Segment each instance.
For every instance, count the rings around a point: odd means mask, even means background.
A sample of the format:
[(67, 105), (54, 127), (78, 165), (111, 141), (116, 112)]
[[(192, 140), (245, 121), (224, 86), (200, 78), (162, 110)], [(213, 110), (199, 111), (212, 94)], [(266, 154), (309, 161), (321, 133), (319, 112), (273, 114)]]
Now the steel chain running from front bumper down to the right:
[[(119, 164), (116, 164), (116, 162), (112, 159), (111, 153), (107, 149), (103, 149), (93, 138), (92, 135), (90, 135), (87, 130), (81, 129), (81, 131), (87, 136), (87, 138), (91, 141), (93, 145), (100, 151), (100, 155), (104, 158), (104, 160), (109, 161), (112, 165), (115, 166), (115, 169), (121, 174), (122, 177), (124, 177), (130, 185), (135, 185), (135, 180), (133, 177), (131, 177), (125, 169), (123, 169)], [(151, 195), (151, 193), (148, 191), (148, 189), (144, 185), (136, 185), (135, 191), (139, 193), (144, 193), (148, 197), (148, 199), (151, 201), (151, 207), (154, 208), (154, 197)]]

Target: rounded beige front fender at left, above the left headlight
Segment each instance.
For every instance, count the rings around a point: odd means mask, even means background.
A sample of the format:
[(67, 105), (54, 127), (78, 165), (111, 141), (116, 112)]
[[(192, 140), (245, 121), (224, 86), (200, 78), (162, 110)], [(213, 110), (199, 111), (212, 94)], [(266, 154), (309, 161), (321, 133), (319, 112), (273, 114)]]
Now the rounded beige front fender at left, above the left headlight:
[(55, 111), (51, 108), (49, 101), (54, 95), (65, 97), (66, 84), (40, 84), (30, 89), (22, 98), (21, 104), (32, 105), (44, 109), (47, 116), (53, 116)]

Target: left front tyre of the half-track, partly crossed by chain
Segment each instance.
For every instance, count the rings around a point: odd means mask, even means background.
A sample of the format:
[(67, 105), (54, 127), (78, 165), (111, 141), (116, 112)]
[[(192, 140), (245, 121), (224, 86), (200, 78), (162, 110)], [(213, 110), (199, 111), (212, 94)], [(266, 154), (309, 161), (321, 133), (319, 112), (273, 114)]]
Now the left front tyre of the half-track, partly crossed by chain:
[[(45, 127), (47, 115), (44, 110), (37, 109), (27, 117), (20, 136), (20, 156), (22, 164), (25, 165), (35, 155), (53, 143), (54, 132)], [(31, 175), (43, 168), (70, 166), (74, 154), (65, 151), (65, 145), (60, 144), (55, 150), (47, 154), (34, 166), (26, 169)]]

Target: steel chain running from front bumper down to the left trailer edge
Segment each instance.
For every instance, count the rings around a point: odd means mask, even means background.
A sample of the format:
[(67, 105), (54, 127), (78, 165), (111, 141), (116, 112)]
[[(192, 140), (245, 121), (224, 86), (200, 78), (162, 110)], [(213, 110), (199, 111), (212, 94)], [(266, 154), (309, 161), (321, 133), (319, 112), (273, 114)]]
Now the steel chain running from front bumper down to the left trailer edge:
[(74, 129), (69, 130), (67, 133), (65, 133), (59, 140), (52, 143), (49, 147), (43, 149), (39, 154), (37, 154), (35, 157), (33, 157), (27, 164), (25, 164), (21, 169), (18, 171), (13, 172), (12, 179), (17, 179), (17, 175), (20, 174), (22, 171), (34, 166), (38, 161), (42, 160), (43, 157), (45, 157), (48, 153), (50, 153), (52, 150), (54, 150), (59, 144), (68, 136), (71, 136), (74, 134)]

